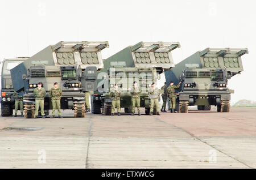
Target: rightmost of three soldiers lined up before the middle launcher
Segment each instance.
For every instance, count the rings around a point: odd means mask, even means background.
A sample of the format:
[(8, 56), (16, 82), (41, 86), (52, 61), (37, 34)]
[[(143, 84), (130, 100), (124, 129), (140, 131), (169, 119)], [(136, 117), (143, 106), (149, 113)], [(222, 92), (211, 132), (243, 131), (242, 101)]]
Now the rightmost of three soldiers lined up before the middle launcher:
[(153, 115), (154, 106), (156, 106), (156, 113), (159, 114), (159, 89), (155, 87), (155, 83), (152, 83), (152, 87), (148, 89), (148, 98), (150, 98), (150, 115)]

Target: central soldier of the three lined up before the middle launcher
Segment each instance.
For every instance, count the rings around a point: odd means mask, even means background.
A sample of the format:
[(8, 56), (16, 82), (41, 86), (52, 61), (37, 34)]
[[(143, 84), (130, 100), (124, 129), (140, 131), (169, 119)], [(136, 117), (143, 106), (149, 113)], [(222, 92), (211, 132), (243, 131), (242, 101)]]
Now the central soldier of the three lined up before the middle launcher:
[(135, 106), (137, 106), (138, 115), (141, 115), (141, 112), (140, 112), (141, 97), (139, 96), (140, 94), (141, 94), (141, 88), (137, 87), (137, 82), (133, 82), (133, 89), (131, 90), (131, 103), (133, 104), (131, 115), (134, 115), (135, 113)]

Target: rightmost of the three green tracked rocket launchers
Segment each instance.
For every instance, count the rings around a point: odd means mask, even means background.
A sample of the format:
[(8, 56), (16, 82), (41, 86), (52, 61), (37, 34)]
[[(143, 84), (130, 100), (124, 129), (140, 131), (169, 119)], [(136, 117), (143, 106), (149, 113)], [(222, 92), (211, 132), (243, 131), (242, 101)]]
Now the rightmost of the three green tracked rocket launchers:
[(166, 71), (167, 84), (182, 82), (177, 91), (177, 111), (187, 113), (189, 105), (210, 110), (214, 105), (218, 112), (229, 112), (233, 91), (227, 87), (228, 79), (243, 71), (241, 56), (245, 53), (247, 49), (207, 48)]

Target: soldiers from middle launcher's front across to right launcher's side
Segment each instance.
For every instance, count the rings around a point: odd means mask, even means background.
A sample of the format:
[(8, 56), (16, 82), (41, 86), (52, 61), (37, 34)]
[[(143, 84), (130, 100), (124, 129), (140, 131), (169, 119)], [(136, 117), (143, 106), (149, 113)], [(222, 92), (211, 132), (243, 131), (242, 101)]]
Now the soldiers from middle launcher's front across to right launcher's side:
[[(181, 83), (181, 82), (180, 82)], [(175, 89), (180, 87), (180, 83), (178, 85), (174, 85), (174, 82), (171, 82), (170, 85), (167, 87), (167, 84), (164, 83), (163, 87), (163, 105), (161, 112), (166, 112), (166, 101), (167, 97), (169, 98), (170, 102), (170, 113), (175, 113), (175, 105), (176, 105), (176, 96), (175, 96)], [(141, 101), (141, 88), (138, 87), (137, 82), (133, 82), (133, 88), (131, 89), (131, 115), (135, 113), (135, 107), (138, 109), (138, 115), (141, 115), (140, 112), (140, 101)], [(154, 107), (156, 108), (156, 114), (160, 115), (159, 113), (159, 103), (158, 98), (160, 95), (160, 89), (155, 87), (155, 83), (151, 84), (151, 87), (148, 88), (148, 98), (150, 98), (150, 115), (153, 115)], [(121, 90), (118, 88), (118, 84), (114, 85), (114, 88), (110, 90), (110, 96), (112, 97), (112, 110), (111, 115), (114, 115), (115, 108), (117, 108), (118, 115), (120, 114), (120, 98), (121, 98)]]

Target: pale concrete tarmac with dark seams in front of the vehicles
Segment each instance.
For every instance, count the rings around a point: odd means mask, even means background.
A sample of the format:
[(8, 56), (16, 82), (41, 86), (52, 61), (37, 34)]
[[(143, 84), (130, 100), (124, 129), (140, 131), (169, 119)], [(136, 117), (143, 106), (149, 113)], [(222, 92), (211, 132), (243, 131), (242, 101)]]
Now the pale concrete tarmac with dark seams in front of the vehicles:
[(0, 168), (256, 168), (256, 108), (160, 114), (0, 117)]

